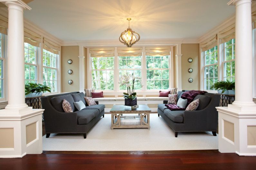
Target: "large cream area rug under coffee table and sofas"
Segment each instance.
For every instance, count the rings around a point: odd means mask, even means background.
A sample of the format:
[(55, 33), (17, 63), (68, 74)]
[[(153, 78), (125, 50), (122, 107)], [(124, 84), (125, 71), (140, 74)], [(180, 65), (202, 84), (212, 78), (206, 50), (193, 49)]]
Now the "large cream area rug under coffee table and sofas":
[(212, 132), (178, 133), (157, 114), (150, 114), (150, 129), (113, 129), (111, 115), (105, 114), (87, 133), (43, 136), (44, 151), (154, 151), (218, 149), (218, 136)]

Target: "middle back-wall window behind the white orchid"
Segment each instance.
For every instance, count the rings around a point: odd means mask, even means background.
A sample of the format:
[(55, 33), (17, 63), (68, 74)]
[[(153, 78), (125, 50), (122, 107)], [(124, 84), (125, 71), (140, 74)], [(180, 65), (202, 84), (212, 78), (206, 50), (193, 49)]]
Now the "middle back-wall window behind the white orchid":
[[(141, 59), (142, 56), (119, 56), (119, 77), (124, 74), (133, 74), (135, 77), (141, 77)], [(141, 84), (136, 81), (134, 89), (141, 89)], [(120, 90), (126, 90), (126, 86), (119, 86)]]

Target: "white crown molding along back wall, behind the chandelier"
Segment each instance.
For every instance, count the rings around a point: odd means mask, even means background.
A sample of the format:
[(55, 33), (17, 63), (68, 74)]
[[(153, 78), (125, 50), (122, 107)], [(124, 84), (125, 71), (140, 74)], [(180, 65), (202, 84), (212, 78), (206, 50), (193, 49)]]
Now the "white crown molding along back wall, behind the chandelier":
[[(198, 44), (198, 39), (140, 39), (133, 46), (175, 46), (176, 44)], [(103, 46), (124, 46), (118, 39), (109, 40), (85, 40), (85, 41), (64, 41), (62, 46), (84, 46), (84, 47), (103, 47)]]

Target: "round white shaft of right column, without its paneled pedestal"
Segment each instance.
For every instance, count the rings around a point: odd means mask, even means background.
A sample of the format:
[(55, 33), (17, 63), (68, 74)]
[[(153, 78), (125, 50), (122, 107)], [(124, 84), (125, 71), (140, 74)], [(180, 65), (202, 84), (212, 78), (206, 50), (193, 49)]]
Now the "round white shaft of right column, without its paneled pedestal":
[(251, 0), (232, 0), (235, 21), (235, 101), (231, 108), (239, 110), (256, 106), (252, 101), (252, 26)]

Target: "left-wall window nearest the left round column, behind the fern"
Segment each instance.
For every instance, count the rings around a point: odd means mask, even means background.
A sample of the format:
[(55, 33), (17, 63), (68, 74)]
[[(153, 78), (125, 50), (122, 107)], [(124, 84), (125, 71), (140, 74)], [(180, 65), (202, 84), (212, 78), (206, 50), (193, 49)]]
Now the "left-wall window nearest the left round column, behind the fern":
[(24, 43), (25, 84), (37, 82), (37, 49), (29, 43)]

